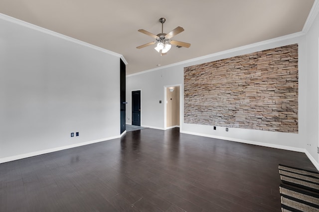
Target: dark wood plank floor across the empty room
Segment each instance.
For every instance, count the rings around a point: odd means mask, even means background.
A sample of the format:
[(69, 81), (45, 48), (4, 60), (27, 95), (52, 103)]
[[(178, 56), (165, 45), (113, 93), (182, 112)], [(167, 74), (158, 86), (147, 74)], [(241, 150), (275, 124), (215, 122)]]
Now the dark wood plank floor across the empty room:
[(0, 212), (276, 212), (278, 164), (304, 153), (143, 129), (0, 164)]

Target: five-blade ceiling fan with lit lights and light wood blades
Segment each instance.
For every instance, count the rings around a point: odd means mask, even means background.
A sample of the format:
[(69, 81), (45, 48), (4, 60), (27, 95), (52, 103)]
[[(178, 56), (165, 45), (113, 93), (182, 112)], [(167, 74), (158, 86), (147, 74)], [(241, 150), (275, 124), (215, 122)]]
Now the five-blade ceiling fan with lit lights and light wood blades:
[(161, 23), (161, 33), (155, 35), (151, 32), (148, 32), (144, 29), (139, 29), (138, 31), (139, 32), (142, 32), (146, 35), (149, 35), (153, 38), (156, 39), (156, 41), (153, 41), (153, 42), (150, 42), (150, 43), (147, 43), (147, 44), (144, 44), (142, 46), (138, 46), (136, 48), (138, 49), (141, 49), (141, 48), (144, 48), (144, 47), (147, 47), (147, 46), (150, 46), (150, 45), (153, 45), (153, 44), (156, 44), (157, 43), (157, 46), (155, 47), (155, 50), (157, 50), (160, 55), (165, 55), (171, 45), (170, 44), (173, 44), (173, 45), (176, 45), (177, 47), (186, 47), (188, 48), (190, 46), (190, 43), (185, 43), (185, 42), (181, 42), (181, 41), (176, 41), (176, 40), (170, 40), (170, 38), (172, 38), (173, 36), (179, 34), (180, 32), (184, 31), (184, 29), (180, 26), (177, 26), (175, 29), (173, 29), (171, 32), (165, 34), (163, 33), (163, 23), (165, 23), (165, 18), (160, 18), (160, 23)]

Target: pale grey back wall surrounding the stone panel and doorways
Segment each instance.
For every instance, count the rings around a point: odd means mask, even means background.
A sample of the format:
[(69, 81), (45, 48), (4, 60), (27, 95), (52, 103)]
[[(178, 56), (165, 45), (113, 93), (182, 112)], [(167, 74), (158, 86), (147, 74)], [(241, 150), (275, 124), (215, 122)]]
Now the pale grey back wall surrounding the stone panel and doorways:
[[(183, 98), (181, 98), (181, 132), (204, 135), (240, 141), (245, 143), (259, 144), (282, 149), (304, 151), (307, 142), (308, 118), (306, 113), (307, 86), (307, 43), (304, 33), (297, 33), (274, 40), (264, 41), (237, 49), (209, 55), (203, 58), (185, 61), (183, 63), (150, 70), (142, 74), (127, 76), (127, 94), (131, 90), (142, 89), (142, 125), (154, 128), (163, 128), (163, 107), (159, 100), (163, 100), (163, 86), (181, 84), (183, 85), (183, 68), (195, 64), (229, 58), (233, 56), (248, 54), (256, 51), (271, 49), (289, 44), (299, 44), (299, 133), (270, 132), (253, 129), (218, 127), (213, 130), (213, 126), (200, 124), (187, 124), (183, 122)], [(189, 49), (191, 50), (191, 49)], [(169, 57), (169, 52), (165, 57)], [(316, 80), (318, 81), (318, 75)], [(317, 87), (318, 90), (318, 87)], [(183, 86), (181, 87), (183, 92)], [(317, 95), (318, 97), (318, 95)], [(130, 98), (127, 97), (127, 100)], [(128, 101), (129, 102), (129, 101)], [(130, 117), (131, 102), (127, 105), (127, 117)], [(317, 106), (318, 110), (318, 106)], [(318, 117), (318, 115), (316, 116)], [(318, 126), (317, 126), (318, 127)], [(318, 131), (318, 128), (317, 128)], [(318, 134), (318, 133), (317, 133)]]

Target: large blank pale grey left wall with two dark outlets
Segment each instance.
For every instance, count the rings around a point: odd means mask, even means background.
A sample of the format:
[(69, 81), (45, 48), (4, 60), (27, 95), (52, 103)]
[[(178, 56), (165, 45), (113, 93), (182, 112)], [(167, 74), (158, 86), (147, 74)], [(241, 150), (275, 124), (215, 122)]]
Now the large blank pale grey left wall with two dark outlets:
[(120, 55), (0, 15), (0, 163), (119, 137), (119, 71)]

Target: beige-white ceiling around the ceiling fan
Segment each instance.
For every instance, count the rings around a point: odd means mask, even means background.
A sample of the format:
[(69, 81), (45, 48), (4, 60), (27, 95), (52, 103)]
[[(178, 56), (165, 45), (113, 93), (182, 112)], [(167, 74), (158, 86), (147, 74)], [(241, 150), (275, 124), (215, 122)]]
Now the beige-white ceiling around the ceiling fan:
[[(0, 0), (0, 13), (122, 54), (133, 74), (219, 51), (300, 32), (314, 0)], [(160, 56), (155, 39), (138, 32), (185, 31)]]

